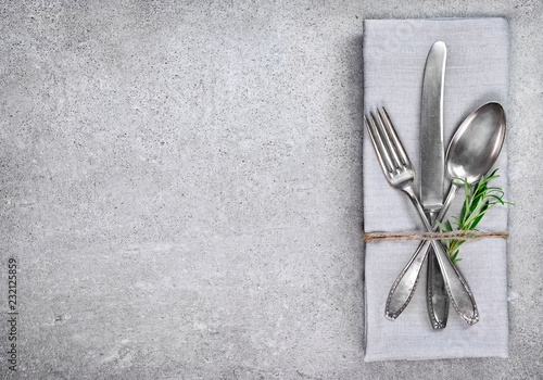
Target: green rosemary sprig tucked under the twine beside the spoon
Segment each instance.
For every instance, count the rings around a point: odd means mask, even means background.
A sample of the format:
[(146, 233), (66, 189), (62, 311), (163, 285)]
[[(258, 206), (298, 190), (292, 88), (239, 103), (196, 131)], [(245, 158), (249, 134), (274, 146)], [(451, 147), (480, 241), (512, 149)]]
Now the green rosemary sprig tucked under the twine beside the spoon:
[[(496, 175), (496, 172), (497, 169), (492, 172), (489, 177), (483, 176), (481, 180), (473, 186), (469, 185), (466, 179), (455, 178), (464, 182), (466, 200), (464, 201), (464, 206), (462, 207), (460, 217), (452, 217), (455, 221), (451, 224), (450, 220), (446, 220), (445, 225), (441, 224), (439, 220), (437, 221), (442, 232), (452, 232), (452, 225), (455, 225), (458, 231), (478, 231), (478, 229), (476, 229), (477, 225), (481, 221), (482, 217), (490, 208), (494, 207), (496, 204), (514, 205), (513, 203), (505, 202), (503, 200), (505, 193), (502, 189), (497, 187), (489, 187), (489, 181), (491, 179), (500, 177)], [(466, 232), (460, 236), (472, 237), (473, 235)], [(462, 258), (458, 258), (458, 249), (465, 242), (466, 240), (444, 240), (445, 251), (453, 263), (462, 261)]]

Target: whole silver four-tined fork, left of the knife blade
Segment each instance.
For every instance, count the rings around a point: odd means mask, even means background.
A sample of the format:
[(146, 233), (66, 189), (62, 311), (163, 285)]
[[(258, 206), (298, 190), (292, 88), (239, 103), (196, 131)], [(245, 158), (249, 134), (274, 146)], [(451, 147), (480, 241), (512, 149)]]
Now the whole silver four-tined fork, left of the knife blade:
[[(381, 115), (381, 112), (377, 110), (377, 116), (370, 112), (368, 117), (364, 116), (364, 122), (387, 180), (391, 186), (402, 190), (409, 197), (427, 231), (432, 232), (432, 227), (413, 189), (415, 170), (397, 138), (387, 111), (382, 107)], [(445, 288), (454, 309), (468, 325), (476, 324), (479, 320), (479, 312), (471, 290), (458, 269), (451, 262), (441, 243), (435, 240), (431, 240), (431, 243), (435, 251), (438, 264), (443, 274)]]

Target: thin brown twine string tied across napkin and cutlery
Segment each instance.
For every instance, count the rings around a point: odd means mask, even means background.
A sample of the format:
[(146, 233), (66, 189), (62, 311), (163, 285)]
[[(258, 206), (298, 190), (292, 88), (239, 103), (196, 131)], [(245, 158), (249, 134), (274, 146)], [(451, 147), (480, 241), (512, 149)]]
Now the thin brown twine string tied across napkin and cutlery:
[(507, 239), (509, 232), (451, 231), (451, 232), (371, 232), (364, 233), (366, 242), (383, 240), (479, 240), (487, 238)]

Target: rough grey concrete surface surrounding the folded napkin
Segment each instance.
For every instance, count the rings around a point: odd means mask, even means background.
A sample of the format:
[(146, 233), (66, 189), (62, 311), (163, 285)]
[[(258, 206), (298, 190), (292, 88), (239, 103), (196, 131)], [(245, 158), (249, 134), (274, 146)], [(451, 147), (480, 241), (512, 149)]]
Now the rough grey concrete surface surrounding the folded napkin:
[[(363, 21), (435, 16), (510, 21), (510, 357), (365, 364)], [(1, 1), (2, 378), (543, 378), (542, 18), (539, 0)]]

